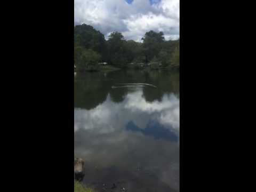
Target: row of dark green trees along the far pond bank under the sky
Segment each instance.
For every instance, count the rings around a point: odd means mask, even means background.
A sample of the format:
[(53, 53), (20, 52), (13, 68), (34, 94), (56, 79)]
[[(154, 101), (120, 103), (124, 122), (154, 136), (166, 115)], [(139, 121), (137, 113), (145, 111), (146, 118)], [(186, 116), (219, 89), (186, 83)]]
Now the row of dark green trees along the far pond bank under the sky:
[(148, 31), (142, 42), (126, 41), (117, 31), (108, 40), (92, 26), (82, 24), (74, 28), (75, 65), (78, 68), (99, 62), (126, 68), (129, 63), (161, 62), (163, 67), (179, 66), (179, 39), (168, 40), (163, 32)]

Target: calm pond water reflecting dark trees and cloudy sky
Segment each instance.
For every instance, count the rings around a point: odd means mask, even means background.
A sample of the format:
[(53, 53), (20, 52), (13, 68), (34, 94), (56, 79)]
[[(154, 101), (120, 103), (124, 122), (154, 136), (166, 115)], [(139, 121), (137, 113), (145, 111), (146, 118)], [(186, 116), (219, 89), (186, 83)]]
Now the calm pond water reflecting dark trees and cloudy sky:
[(179, 73), (77, 73), (74, 91), (75, 156), (87, 186), (179, 191)]

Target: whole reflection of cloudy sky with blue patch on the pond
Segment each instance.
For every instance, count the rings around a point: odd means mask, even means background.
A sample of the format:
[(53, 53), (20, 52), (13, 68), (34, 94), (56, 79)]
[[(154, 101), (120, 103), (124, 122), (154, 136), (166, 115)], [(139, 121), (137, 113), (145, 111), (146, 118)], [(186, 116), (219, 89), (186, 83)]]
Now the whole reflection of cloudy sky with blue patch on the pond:
[[(179, 190), (179, 99), (174, 94), (147, 102), (137, 90), (119, 103), (108, 95), (93, 109), (75, 108), (74, 126), (75, 154), (87, 163), (117, 166), (131, 175), (143, 166), (159, 179), (154, 182)], [(142, 179), (148, 182), (150, 175)]]

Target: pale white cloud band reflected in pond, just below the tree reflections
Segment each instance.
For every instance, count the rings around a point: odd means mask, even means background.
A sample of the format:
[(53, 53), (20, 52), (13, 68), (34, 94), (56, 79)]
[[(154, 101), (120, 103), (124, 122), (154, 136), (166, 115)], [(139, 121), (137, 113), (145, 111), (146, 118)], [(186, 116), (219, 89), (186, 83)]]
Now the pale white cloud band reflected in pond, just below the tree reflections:
[(107, 100), (94, 109), (75, 109), (75, 132), (79, 129), (95, 134), (122, 131), (131, 120), (145, 129), (150, 119), (153, 119), (179, 134), (179, 104), (179, 99), (173, 94), (164, 95), (161, 102), (147, 102), (143, 92), (137, 91), (127, 94), (121, 103), (112, 102), (108, 95)]

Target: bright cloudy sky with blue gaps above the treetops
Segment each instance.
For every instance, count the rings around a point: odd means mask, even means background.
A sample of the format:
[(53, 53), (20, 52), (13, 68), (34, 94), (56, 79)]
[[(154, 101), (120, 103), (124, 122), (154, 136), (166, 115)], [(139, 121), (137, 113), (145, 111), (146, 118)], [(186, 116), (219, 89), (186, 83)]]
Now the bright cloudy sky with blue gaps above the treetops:
[(179, 38), (179, 0), (75, 0), (75, 25), (93, 26), (108, 38), (113, 31), (141, 41), (149, 30)]

